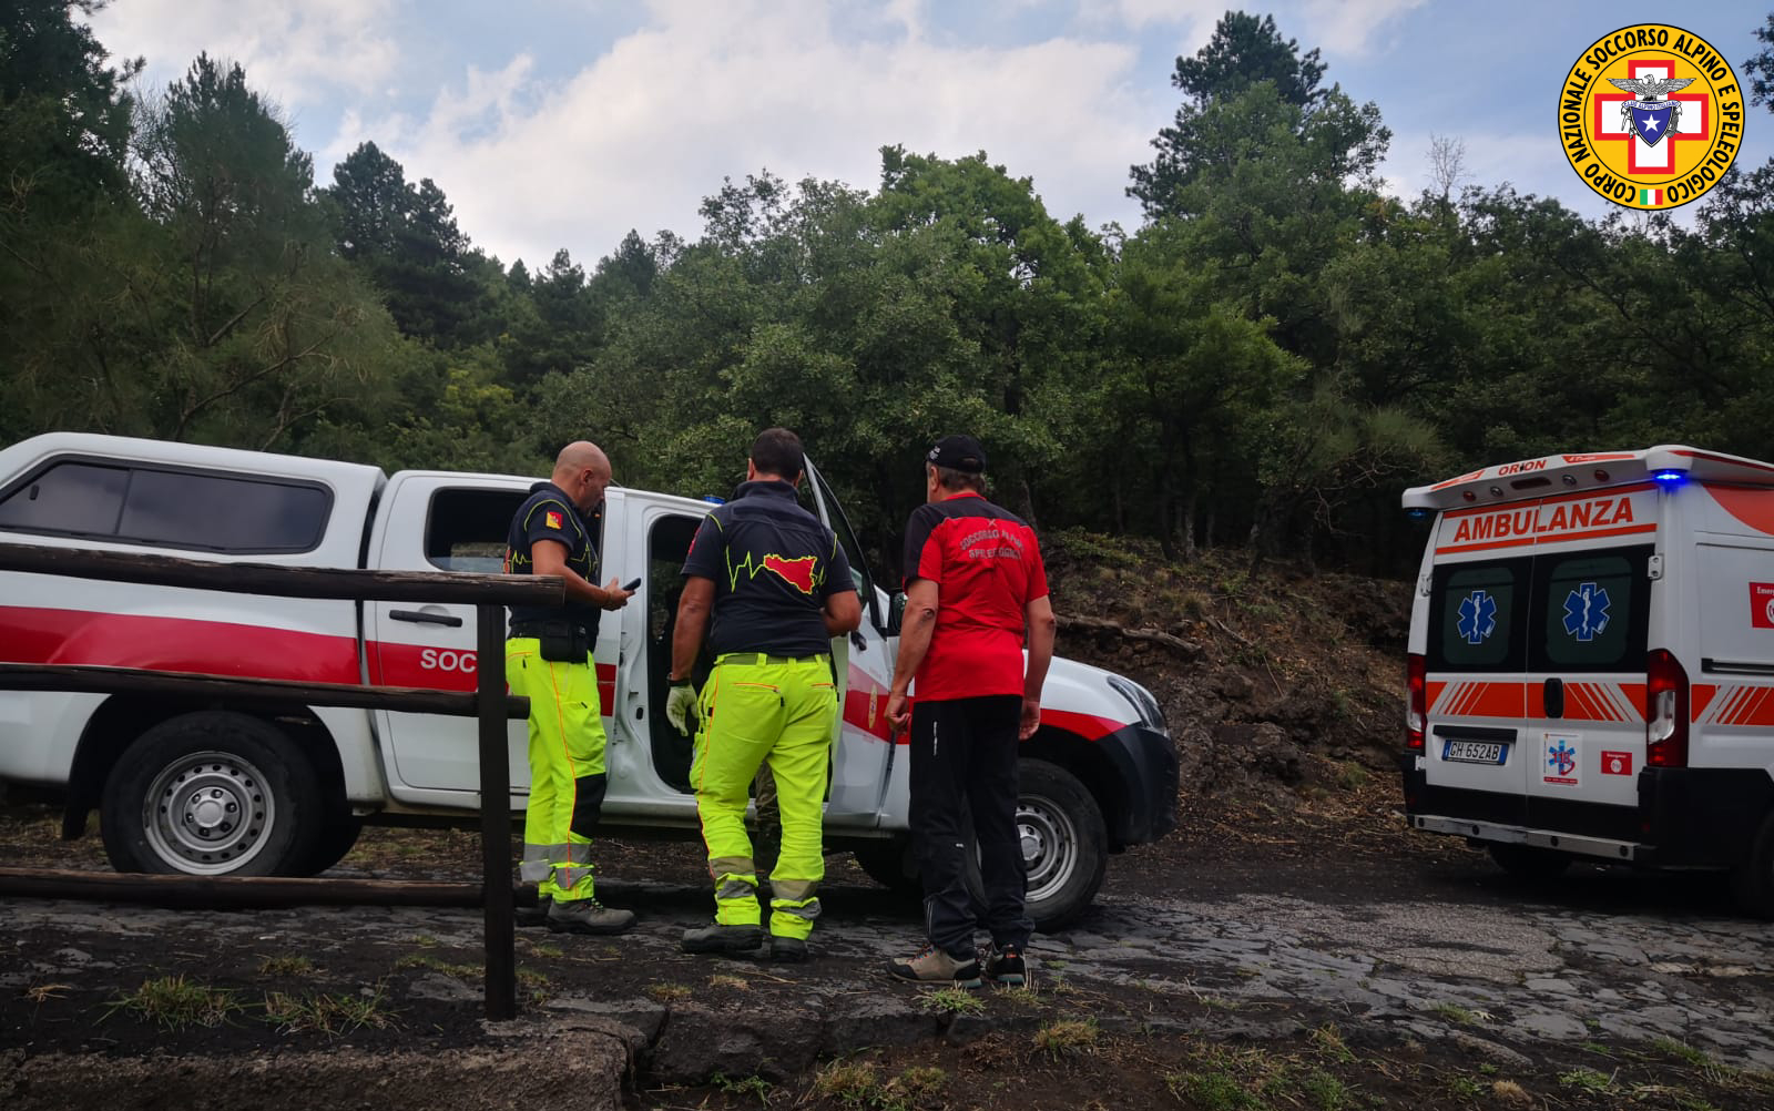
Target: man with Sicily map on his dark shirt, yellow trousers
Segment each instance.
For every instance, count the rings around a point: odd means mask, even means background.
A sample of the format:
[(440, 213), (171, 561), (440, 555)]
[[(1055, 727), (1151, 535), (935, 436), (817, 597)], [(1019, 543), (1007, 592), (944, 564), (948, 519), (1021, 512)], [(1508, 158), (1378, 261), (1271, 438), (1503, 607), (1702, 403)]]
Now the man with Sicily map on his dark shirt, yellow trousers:
[[(763, 944), (745, 795), (766, 761), (782, 822), (770, 870), (770, 957), (805, 960), (820, 914), (820, 806), (839, 708), (830, 642), (862, 623), (862, 603), (837, 536), (795, 500), (804, 470), (795, 433), (759, 433), (745, 485), (703, 520), (683, 564), (665, 715), (687, 733), (690, 708), (701, 710), (690, 783), (715, 880), (715, 921), (685, 930), (687, 953)], [(704, 628), (715, 667), (697, 699), (690, 667)]]

